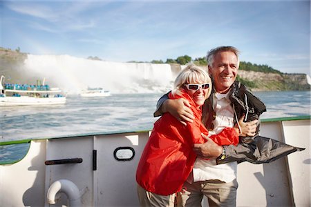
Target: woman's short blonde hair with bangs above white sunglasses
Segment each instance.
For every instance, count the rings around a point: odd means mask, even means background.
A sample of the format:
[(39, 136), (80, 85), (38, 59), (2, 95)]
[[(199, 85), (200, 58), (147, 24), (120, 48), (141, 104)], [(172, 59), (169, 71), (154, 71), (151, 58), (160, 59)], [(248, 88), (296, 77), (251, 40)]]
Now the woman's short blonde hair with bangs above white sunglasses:
[(171, 91), (172, 94), (178, 95), (180, 93), (180, 89), (187, 83), (209, 83), (210, 86), (207, 97), (211, 94), (211, 78), (209, 77), (207, 71), (198, 66), (190, 65), (179, 72), (174, 81), (173, 90)]

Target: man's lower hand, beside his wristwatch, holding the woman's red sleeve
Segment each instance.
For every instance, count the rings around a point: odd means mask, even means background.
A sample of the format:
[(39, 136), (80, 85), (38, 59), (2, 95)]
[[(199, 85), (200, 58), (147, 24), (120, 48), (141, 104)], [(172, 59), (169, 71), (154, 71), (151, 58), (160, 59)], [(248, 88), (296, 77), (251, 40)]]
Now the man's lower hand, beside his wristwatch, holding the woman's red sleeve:
[(223, 153), (222, 146), (218, 146), (218, 144), (203, 134), (202, 137), (207, 139), (207, 142), (204, 144), (194, 144), (194, 152), (196, 152), (198, 157), (211, 159), (217, 158)]

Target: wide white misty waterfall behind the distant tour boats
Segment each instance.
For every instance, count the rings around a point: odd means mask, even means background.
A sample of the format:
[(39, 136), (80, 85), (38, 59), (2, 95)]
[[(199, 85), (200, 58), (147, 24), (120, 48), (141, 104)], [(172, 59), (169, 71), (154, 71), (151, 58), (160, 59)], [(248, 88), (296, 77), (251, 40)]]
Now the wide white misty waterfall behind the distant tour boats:
[(111, 93), (149, 93), (171, 90), (176, 77), (169, 64), (97, 61), (69, 55), (28, 55), (28, 75), (46, 78), (67, 94), (86, 88), (104, 88)]

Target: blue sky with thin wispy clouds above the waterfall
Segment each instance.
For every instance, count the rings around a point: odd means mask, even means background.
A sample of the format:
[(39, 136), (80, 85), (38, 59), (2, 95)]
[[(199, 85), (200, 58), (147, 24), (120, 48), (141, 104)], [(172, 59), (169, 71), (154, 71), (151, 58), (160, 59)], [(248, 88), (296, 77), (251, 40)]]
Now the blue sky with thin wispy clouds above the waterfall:
[(204, 57), (310, 75), (310, 1), (0, 1), (0, 46), (106, 61)]

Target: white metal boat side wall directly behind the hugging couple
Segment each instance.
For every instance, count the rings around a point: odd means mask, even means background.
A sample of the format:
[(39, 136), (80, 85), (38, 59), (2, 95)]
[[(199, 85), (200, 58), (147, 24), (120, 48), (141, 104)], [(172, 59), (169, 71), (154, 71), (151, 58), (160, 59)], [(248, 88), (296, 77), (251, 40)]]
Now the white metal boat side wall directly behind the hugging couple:
[[(150, 132), (0, 139), (0, 204), (139, 206), (135, 171)], [(310, 206), (310, 116), (262, 119), (261, 136), (306, 150), (238, 164), (236, 206)]]

